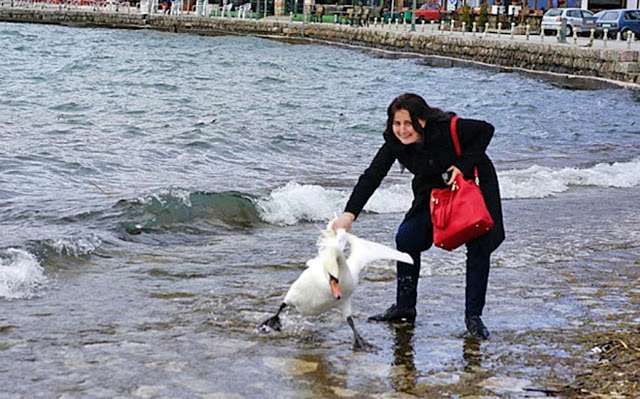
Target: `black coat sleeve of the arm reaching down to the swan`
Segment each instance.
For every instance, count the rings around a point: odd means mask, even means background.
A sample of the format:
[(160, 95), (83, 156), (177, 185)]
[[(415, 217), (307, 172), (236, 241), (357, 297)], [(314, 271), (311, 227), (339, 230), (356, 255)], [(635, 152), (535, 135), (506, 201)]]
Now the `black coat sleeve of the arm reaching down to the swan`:
[(383, 144), (369, 167), (360, 175), (358, 183), (353, 188), (349, 201), (347, 201), (347, 205), (344, 208), (345, 212), (353, 213), (356, 218), (358, 217), (369, 198), (380, 186), (382, 179), (387, 175), (395, 160), (396, 157), (393, 155), (389, 144)]

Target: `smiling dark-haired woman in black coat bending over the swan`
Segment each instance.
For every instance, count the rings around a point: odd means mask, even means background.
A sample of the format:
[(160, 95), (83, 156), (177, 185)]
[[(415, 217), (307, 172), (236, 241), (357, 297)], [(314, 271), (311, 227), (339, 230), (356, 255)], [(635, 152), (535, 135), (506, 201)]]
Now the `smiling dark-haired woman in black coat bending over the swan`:
[(396, 160), (403, 169), (413, 173), (413, 203), (398, 228), (396, 246), (399, 251), (411, 255), (414, 265), (398, 262), (396, 303), (383, 313), (369, 318), (374, 321), (413, 322), (416, 317), (420, 254), (433, 243), (429, 211), (431, 190), (451, 185), (460, 173), (472, 178), (474, 167), (477, 166), (480, 188), (495, 226), (487, 234), (466, 244), (465, 325), (471, 336), (488, 339), (489, 330), (480, 316), (485, 304), (491, 252), (504, 240), (498, 177), (485, 153), (494, 129), (483, 121), (458, 119), (457, 133), (462, 156), (457, 158), (450, 134), (450, 121), (454, 115), (429, 107), (416, 94), (403, 94), (394, 99), (387, 109), (384, 144), (360, 176), (344, 213), (334, 221), (332, 227), (351, 229), (353, 221)]

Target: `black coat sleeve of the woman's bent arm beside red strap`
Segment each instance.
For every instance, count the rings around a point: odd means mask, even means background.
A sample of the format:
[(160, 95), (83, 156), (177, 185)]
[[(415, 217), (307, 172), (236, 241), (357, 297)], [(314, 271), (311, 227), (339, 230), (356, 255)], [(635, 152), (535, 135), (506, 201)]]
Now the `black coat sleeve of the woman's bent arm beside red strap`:
[(482, 160), (493, 137), (493, 131), (493, 125), (485, 121), (458, 119), (457, 132), (462, 156), (455, 162), (455, 166), (465, 176), (473, 174), (474, 165)]

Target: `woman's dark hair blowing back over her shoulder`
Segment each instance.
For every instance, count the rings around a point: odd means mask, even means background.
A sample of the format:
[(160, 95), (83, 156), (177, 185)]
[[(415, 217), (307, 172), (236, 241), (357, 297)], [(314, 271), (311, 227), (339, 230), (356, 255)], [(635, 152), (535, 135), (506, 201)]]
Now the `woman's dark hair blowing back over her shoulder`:
[(394, 137), (393, 117), (395, 116), (396, 112), (400, 110), (409, 112), (413, 128), (422, 136), (424, 136), (424, 129), (418, 123), (418, 119), (425, 120), (427, 121), (427, 123), (442, 122), (450, 120), (451, 117), (455, 115), (452, 112), (444, 112), (439, 108), (430, 107), (427, 102), (424, 101), (424, 98), (420, 97), (417, 94), (405, 93), (391, 101), (391, 104), (389, 104), (389, 108), (387, 108), (387, 128), (384, 132), (385, 135)]

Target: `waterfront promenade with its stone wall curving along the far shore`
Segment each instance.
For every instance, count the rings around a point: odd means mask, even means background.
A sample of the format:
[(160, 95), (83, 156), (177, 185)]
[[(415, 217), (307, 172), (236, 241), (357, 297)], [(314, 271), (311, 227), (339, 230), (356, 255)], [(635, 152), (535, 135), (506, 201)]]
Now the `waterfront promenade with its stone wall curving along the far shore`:
[[(4, 1), (4, 2), (3, 2)], [(512, 35), (505, 30), (472, 33), (450, 26), (410, 24), (353, 27), (293, 22), (289, 18), (259, 20), (201, 17), (192, 14), (140, 14), (135, 8), (105, 9), (32, 3), (16, 7), (0, 1), (0, 21), (110, 28), (151, 28), (201, 35), (241, 34), (284, 40), (322, 42), (376, 49), (424, 58), (437, 66), (476, 65), (544, 75), (571, 87), (622, 86), (640, 89), (640, 42)], [(455, 28), (454, 28), (455, 29)]]

